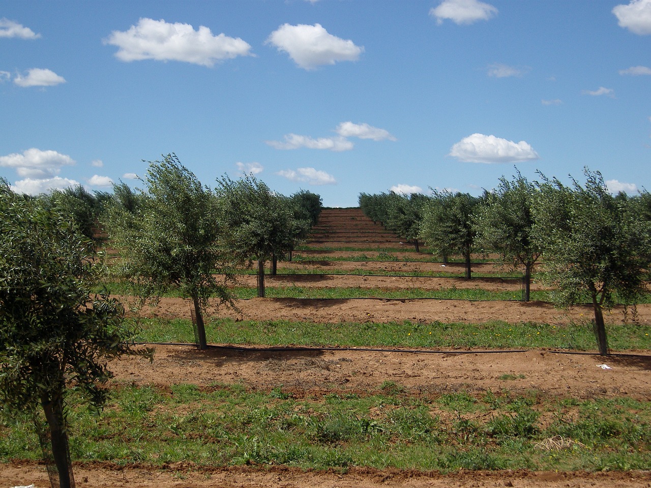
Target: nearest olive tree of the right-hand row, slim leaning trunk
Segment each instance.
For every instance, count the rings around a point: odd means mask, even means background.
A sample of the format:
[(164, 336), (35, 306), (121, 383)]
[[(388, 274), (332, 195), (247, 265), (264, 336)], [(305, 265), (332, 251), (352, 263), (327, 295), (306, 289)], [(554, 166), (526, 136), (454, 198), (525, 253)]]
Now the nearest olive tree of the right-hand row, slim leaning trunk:
[[(542, 175), (541, 175), (542, 176)], [(651, 225), (626, 199), (611, 195), (599, 172), (585, 170), (585, 186), (559, 180), (538, 184), (534, 235), (543, 250), (542, 277), (553, 299), (570, 306), (586, 298), (594, 310), (600, 355), (608, 354), (603, 309), (644, 291), (651, 266)]]

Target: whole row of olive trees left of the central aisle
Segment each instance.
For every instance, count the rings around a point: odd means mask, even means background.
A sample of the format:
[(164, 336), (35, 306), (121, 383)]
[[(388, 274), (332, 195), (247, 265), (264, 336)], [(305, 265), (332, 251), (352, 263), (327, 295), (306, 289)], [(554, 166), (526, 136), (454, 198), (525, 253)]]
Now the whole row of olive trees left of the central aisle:
[(225, 283), (238, 265), (282, 256), (307, 237), (321, 199), (283, 197), (253, 176), (202, 185), (173, 154), (150, 163), (146, 188), (121, 183), (113, 195), (82, 187), (27, 197), (0, 180), (0, 409), (33, 418), (53, 487), (74, 486), (66, 398), (71, 387), (102, 407), (107, 360), (150, 356), (130, 342), (124, 306), (95, 293), (107, 277), (98, 228), (120, 251), (111, 267), (143, 299), (174, 286), (193, 300), (199, 347), (202, 306), (230, 300)]

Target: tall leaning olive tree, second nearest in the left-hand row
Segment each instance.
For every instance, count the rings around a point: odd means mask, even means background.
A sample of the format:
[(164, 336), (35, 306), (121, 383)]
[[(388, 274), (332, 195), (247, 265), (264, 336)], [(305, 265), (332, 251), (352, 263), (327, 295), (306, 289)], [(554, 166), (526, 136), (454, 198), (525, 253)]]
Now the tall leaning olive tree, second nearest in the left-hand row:
[[(176, 154), (151, 161), (146, 189), (132, 198), (124, 187), (109, 208), (106, 227), (111, 243), (120, 251), (119, 274), (129, 280), (144, 303), (169, 288), (192, 300), (199, 349), (206, 349), (204, 310), (210, 297), (230, 302), (225, 282), (229, 255), (218, 241), (225, 228), (216, 219), (217, 199)], [(129, 202), (125, 206), (124, 202)]]

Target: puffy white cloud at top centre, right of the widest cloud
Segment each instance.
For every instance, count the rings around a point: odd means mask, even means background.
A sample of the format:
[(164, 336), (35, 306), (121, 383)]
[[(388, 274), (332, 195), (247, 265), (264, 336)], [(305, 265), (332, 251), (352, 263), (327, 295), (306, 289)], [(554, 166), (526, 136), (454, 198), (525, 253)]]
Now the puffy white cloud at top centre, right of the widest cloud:
[(267, 38), (265, 44), (272, 44), (279, 51), (305, 70), (314, 70), (324, 64), (337, 61), (357, 61), (364, 52), (363, 46), (355, 46), (352, 40), (345, 40), (329, 34), (322, 25), (281, 25)]

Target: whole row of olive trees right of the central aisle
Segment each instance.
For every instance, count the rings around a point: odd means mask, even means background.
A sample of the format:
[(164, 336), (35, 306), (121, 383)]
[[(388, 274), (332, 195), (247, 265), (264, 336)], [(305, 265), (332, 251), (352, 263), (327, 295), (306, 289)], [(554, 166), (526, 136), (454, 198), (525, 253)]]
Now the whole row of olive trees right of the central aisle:
[(359, 195), (359, 206), (376, 223), (413, 242), (425, 243), (445, 263), (460, 254), (471, 278), (471, 253), (495, 253), (497, 264), (523, 270), (524, 297), (531, 275), (548, 284), (558, 305), (589, 301), (601, 354), (608, 351), (603, 310), (635, 304), (647, 293), (651, 265), (651, 195), (612, 195), (599, 172), (564, 185), (539, 174), (501, 178), (480, 197), (434, 191), (432, 195)]

